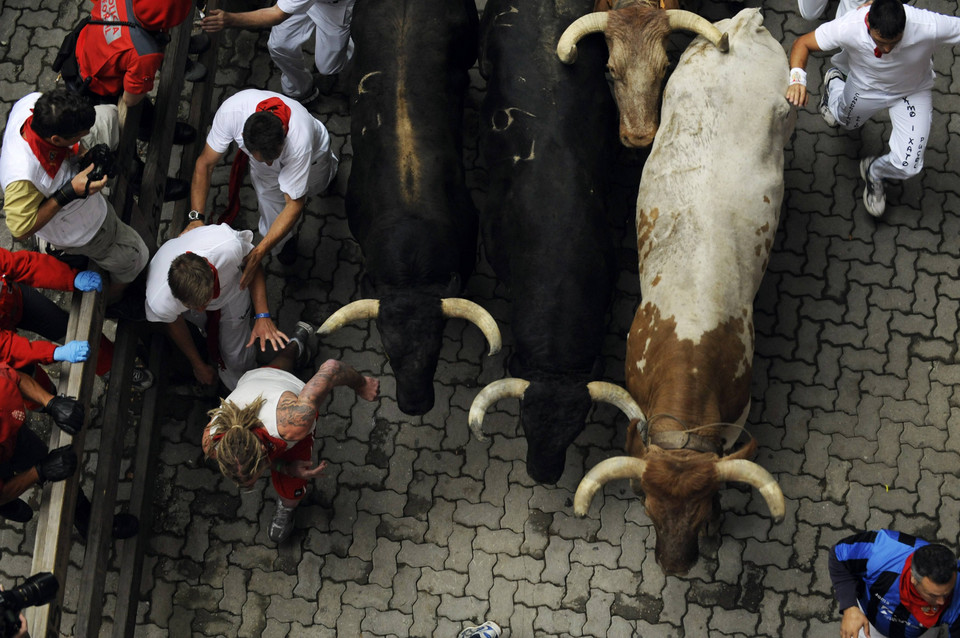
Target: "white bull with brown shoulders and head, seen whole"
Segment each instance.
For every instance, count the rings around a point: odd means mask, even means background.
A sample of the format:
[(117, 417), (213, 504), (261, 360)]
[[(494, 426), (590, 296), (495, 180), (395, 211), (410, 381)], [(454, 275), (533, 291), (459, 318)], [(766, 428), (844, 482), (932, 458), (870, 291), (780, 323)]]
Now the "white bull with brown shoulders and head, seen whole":
[[(717, 26), (730, 51), (702, 38), (687, 48), (667, 82), (663, 125), (640, 181), (642, 300), (627, 336), (626, 384), (647, 422), (631, 424), (629, 456), (594, 467), (575, 499), (582, 516), (604, 483), (635, 481), (668, 573), (697, 561), (698, 535), (719, 515), (725, 481), (758, 488), (771, 516), (784, 514), (775, 479), (746, 460), (756, 444), (724, 454), (737, 438), (729, 424), (742, 424), (750, 406), (753, 300), (777, 229), (794, 123), (783, 97), (787, 60), (756, 9)], [(619, 102), (621, 111), (635, 106)]]

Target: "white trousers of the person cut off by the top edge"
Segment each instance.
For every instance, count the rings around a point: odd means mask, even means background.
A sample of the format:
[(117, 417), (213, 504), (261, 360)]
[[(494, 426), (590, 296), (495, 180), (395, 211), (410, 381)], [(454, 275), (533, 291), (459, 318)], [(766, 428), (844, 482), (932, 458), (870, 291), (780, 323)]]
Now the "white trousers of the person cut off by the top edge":
[(302, 98), (313, 89), (313, 73), (304, 67), (302, 49), (314, 33), (314, 61), (319, 73), (338, 73), (350, 59), (350, 19), (355, 2), (316, 2), (306, 13), (291, 15), (270, 30), (267, 50), (280, 69), (280, 87), (285, 95)]

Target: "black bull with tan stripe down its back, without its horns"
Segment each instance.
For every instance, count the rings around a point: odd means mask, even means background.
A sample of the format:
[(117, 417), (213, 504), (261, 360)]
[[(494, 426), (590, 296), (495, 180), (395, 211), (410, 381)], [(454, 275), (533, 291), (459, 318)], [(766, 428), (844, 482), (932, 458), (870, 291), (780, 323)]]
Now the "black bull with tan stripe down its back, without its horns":
[(477, 23), (473, 0), (362, 0), (353, 16), (346, 211), (407, 414), (433, 407), (441, 298), (457, 295), (476, 261), (461, 128)]

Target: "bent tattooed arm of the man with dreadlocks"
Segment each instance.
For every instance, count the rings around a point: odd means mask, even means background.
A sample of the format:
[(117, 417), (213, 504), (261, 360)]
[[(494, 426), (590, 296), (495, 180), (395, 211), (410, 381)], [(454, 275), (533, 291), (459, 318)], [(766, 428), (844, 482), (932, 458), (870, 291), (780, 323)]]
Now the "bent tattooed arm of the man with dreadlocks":
[(287, 441), (299, 441), (310, 434), (320, 405), (337, 386), (353, 388), (357, 395), (367, 401), (377, 398), (380, 382), (365, 377), (350, 366), (335, 359), (328, 359), (320, 366), (313, 378), (295, 397), (285, 392), (277, 403), (277, 423), (280, 436)]

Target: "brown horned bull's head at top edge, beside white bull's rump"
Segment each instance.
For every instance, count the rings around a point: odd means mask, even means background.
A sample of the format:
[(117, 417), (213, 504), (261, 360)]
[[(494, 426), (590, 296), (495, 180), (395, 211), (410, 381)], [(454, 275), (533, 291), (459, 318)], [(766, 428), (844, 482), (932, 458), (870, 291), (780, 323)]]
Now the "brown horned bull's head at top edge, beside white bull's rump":
[[(660, 87), (667, 72), (667, 36), (679, 29), (693, 31), (723, 52), (727, 37), (695, 13), (653, 0), (616, 0), (610, 11), (589, 13), (571, 24), (557, 44), (562, 62), (577, 59), (577, 42), (591, 33), (603, 33), (609, 58), (607, 69), (620, 109), (620, 141), (624, 146), (650, 146), (657, 134)], [(600, 3), (597, 6), (602, 6)], [(629, 109), (622, 105), (630, 104)]]

